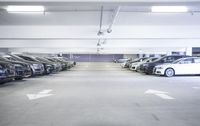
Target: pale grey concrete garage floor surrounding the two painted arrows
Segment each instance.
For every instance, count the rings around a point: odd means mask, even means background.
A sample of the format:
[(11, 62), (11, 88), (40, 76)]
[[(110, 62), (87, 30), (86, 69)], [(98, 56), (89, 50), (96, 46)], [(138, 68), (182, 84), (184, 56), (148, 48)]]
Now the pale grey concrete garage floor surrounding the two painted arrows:
[[(48, 97), (27, 94), (50, 89)], [(174, 99), (146, 94), (168, 92)], [(200, 76), (158, 77), (114, 63), (0, 86), (0, 126), (199, 126)]]

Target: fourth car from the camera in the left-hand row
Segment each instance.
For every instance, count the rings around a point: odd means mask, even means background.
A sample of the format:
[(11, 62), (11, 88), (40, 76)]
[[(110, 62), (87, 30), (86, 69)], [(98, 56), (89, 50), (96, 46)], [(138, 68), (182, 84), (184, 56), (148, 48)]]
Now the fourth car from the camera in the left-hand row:
[(19, 56), (27, 61), (32, 61), (32, 62), (37, 62), (37, 63), (43, 64), (43, 69), (44, 69), (43, 74), (50, 74), (53, 71), (53, 65), (49, 62), (39, 61), (34, 56), (27, 56), (27, 55), (21, 55), (21, 54), (17, 54), (17, 56)]

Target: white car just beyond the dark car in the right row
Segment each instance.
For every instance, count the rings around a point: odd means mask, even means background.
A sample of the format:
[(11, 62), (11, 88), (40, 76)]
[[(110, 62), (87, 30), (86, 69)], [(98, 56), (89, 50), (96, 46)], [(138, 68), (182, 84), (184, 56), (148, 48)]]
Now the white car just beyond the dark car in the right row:
[(148, 58), (148, 59), (145, 59), (143, 60), (142, 62), (136, 62), (136, 63), (132, 63), (131, 64), (131, 67), (129, 68), (130, 70), (133, 70), (133, 71), (139, 71), (140, 69), (140, 65), (143, 64), (143, 63), (148, 63), (148, 62), (152, 62), (154, 60), (156, 60), (158, 58), (156, 57), (151, 57), (151, 58)]

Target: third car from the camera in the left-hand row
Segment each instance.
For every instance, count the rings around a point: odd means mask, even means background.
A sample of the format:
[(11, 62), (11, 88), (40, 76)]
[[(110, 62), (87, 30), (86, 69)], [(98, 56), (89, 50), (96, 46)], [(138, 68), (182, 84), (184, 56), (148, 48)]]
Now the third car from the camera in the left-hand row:
[(12, 54), (4, 55), (3, 57), (12, 61), (20, 61), (27, 63), (31, 68), (31, 76), (42, 75), (44, 73), (44, 66), (40, 62), (28, 61), (17, 55), (12, 55)]

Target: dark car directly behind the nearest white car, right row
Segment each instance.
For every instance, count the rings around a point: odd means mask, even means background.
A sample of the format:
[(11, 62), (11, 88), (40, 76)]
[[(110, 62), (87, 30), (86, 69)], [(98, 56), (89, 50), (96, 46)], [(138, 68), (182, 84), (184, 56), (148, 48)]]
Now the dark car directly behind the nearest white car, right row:
[(164, 56), (160, 59), (157, 59), (153, 62), (144, 63), (143, 66), (140, 66), (140, 71), (146, 73), (146, 74), (153, 74), (153, 68), (156, 65), (164, 64), (164, 63), (172, 63), (177, 59), (189, 57), (186, 55), (171, 55), (171, 56)]

